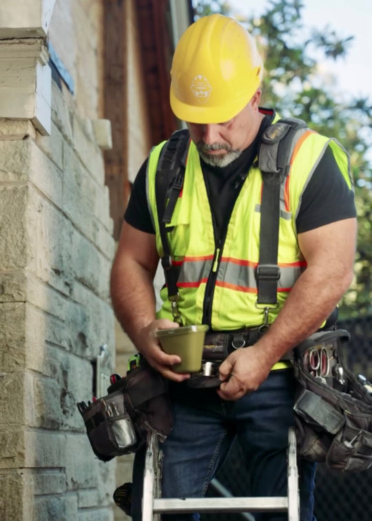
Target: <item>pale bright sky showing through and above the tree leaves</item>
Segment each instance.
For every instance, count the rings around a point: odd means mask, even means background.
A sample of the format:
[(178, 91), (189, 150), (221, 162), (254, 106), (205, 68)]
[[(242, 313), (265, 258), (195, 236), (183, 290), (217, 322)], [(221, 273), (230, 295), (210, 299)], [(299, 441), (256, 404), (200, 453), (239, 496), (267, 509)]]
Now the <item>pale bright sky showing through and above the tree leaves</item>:
[[(342, 97), (372, 99), (372, 0), (302, 0), (302, 3), (304, 26), (320, 30), (328, 25), (340, 37), (354, 37), (347, 57), (335, 63), (320, 62), (320, 70), (335, 74), (335, 88)], [(269, 0), (229, 0), (229, 4), (249, 17), (262, 14), (270, 6)]]

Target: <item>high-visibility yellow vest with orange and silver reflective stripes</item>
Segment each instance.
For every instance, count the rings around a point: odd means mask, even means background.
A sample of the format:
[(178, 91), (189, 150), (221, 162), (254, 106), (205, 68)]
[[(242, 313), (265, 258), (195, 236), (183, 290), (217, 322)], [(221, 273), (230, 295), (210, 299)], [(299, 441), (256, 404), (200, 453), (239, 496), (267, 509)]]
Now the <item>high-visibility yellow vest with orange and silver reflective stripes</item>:
[[(156, 247), (163, 255), (156, 208), (155, 176), (159, 155), (165, 142), (154, 147), (147, 163), (147, 199), (156, 229)], [(272, 323), (282, 305), (306, 269), (298, 247), (296, 216), (299, 201), (320, 157), (331, 147), (335, 161), (347, 184), (352, 188), (347, 152), (334, 139), (307, 130), (293, 150), (291, 168), (282, 185), (278, 244), (278, 306), (269, 309), (268, 323)], [(254, 163), (254, 165), (256, 162)], [(262, 176), (252, 166), (242, 185), (231, 214), (227, 235), (216, 244), (207, 190), (200, 167), (198, 151), (190, 143), (183, 190), (176, 202), (172, 221), (167, 225), (172, 263), (179, 269), (178, 309), (183, 324), (200, 324), (207, 299), (210, 307), (210, 327), (218, 330), (236, 330), (262, 325), (262, 306), (256, 305), (257, 286), (255, 268), (259, 258), (260, 201)], [(214, 285), (207, 281), (213, 277)], [(163, 306), (157, 318), (172, 320), (172, 305), (167, 288), (161, 290)]]

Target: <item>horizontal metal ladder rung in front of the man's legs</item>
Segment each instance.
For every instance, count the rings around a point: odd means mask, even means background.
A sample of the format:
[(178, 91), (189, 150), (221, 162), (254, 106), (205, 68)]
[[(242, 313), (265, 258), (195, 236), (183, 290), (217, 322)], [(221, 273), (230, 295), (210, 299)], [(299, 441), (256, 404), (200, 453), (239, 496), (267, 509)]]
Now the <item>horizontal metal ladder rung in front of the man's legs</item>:
[(288, 498), (160, 498), (154, 499), (154, 513), (253, 512), (288, 510)]

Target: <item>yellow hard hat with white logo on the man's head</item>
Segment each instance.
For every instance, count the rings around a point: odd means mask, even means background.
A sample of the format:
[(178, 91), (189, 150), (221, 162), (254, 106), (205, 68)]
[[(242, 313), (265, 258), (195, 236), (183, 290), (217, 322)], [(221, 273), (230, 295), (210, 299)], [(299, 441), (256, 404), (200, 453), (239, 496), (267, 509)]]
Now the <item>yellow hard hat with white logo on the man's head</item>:
[(233, 18), (211, 14), (180, 37), (172, 62), (170, 104), (189, 123), (223, 123), (249, 102), (262, 79), (254, 39)]

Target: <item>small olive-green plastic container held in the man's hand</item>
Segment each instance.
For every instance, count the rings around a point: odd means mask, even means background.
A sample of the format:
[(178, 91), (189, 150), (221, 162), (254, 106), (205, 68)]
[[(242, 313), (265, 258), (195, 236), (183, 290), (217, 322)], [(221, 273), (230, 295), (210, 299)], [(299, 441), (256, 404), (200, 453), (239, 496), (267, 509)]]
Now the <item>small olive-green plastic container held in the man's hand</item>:
[(181, 362), (172, 367), (176, 373), (200, 371), (207, 330), (207, 325), (190, 325), (155, 331), (163, 351), (180, 356)]

